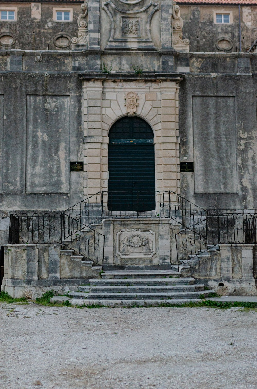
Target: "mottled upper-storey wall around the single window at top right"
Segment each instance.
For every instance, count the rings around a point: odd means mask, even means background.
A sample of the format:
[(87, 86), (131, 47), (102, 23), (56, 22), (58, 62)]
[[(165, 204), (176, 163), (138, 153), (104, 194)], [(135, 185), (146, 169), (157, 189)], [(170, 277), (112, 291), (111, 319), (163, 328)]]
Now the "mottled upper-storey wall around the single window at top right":
[[(180, 5), (183, 35), (190, 40), (190, 51), (239, 51), (238, 5)], [(229, 24), (215, 24), (215, 13), (230, 14)], [(257, 7), (241, 7), (241, 51), (247, 51), (257, 33)]]

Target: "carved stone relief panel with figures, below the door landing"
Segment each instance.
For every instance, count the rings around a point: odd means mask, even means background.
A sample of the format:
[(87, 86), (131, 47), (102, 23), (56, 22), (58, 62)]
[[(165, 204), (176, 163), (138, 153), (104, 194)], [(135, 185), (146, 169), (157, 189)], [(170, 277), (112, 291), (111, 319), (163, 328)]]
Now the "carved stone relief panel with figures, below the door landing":
[(116, 252), (120, 258), (152, 258), (156, 254), (155, 232), (142, 228), (120, 230)]

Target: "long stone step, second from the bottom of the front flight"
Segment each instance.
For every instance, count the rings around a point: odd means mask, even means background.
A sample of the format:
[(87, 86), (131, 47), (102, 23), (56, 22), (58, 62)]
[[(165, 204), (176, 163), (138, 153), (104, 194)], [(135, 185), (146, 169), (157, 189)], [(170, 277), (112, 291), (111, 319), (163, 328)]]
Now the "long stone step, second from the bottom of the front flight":
[[(190, 298), (200, 298), (201, 295), (208, 296), (209, 293), (214, 292), (212, 290), (210, 291), (198, 291), (198, 292), (174, 292), (174, 293), (83, 293), (89, 300), (152, 300), (152, 299), (190, 299)], [(77, 292), (77, 296), (81, 296)], [(74, 294), (73, 294), (74, 297)], [(81, 298), (85, 298), (85, 296), (82, 296)]]

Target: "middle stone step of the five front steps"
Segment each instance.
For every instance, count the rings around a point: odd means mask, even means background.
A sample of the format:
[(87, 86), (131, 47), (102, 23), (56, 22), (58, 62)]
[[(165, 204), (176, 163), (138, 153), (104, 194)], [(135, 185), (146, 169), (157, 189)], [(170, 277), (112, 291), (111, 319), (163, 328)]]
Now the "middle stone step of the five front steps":
[[(203, 291), (204, 285), (95, 286), (91, 293), (173, 293)], [(80, 290), (80, 289), (79, 289)], [(85, 291), (85, 290), (84, 290)], [(74, 294), (74, 293), (73, 293)]]

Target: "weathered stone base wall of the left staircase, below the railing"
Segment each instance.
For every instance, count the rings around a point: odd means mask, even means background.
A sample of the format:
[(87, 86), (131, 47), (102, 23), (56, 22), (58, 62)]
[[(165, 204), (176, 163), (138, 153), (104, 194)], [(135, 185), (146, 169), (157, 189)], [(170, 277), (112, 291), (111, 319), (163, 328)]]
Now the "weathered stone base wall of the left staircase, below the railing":
[(4, 252), (1, 290), (12, 297), (35, 299), (51, 289), (56, 294), (76, 291), (98, 278), (101, 269), (77, 259), (72, 250), (61, 250), (61, 244), (6, 245)]

